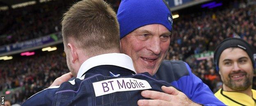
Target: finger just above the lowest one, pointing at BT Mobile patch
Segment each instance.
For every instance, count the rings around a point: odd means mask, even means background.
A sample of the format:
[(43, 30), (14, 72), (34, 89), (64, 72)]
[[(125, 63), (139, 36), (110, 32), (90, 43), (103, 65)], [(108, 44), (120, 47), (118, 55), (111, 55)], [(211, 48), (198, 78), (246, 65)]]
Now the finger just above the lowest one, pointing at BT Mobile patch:
[(141, 95), (146, 98), (159, 99), (159, 100), (165, 100), (165, 101), (171, 101), (171, 99), (174, 97), (173, 95), (169, 95), (167, 93), (161, 93), (158, 91), (149, 91), (149, 90), (142, 91)]

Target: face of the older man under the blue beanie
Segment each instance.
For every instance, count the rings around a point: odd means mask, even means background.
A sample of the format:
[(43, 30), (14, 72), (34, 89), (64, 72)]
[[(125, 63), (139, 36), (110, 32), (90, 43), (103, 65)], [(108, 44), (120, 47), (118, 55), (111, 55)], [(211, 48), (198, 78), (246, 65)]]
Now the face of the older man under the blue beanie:
[(129, 55), (137, 73), (154, 75), (169, 49), (171, 32), (161, 24), (136, 29), (121, 39), (121, 51)]

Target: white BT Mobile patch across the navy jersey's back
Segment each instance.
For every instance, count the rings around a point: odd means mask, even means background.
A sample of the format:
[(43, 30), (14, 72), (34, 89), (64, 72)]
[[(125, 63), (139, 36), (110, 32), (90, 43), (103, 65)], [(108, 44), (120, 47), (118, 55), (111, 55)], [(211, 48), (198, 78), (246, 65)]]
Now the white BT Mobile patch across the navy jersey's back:
[(150, 89), (149, 82), (135, 78), (107, 79), (92, 83), (96, 97), (120, 91), (135, 91)]

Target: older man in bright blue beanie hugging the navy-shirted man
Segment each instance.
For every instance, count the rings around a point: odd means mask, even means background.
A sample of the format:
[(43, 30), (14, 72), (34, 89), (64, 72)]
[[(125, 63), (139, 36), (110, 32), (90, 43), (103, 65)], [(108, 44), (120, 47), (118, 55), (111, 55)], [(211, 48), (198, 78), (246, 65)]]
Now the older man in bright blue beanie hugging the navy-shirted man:
[[(172, 23), (171, 11), (164, 0), (122, 0), (117, 18), (120, 26), (121, 52), (129, 55), (137, 73), (149, 72), (171, 83), (185, 93), (142, 91), (142, 96), (154, 100), (139, 100), (139, 106), (224, 105), (183, 61), (163, 61), (169, 49)], [(166, 90), (165, 90), (166, 91)]]

